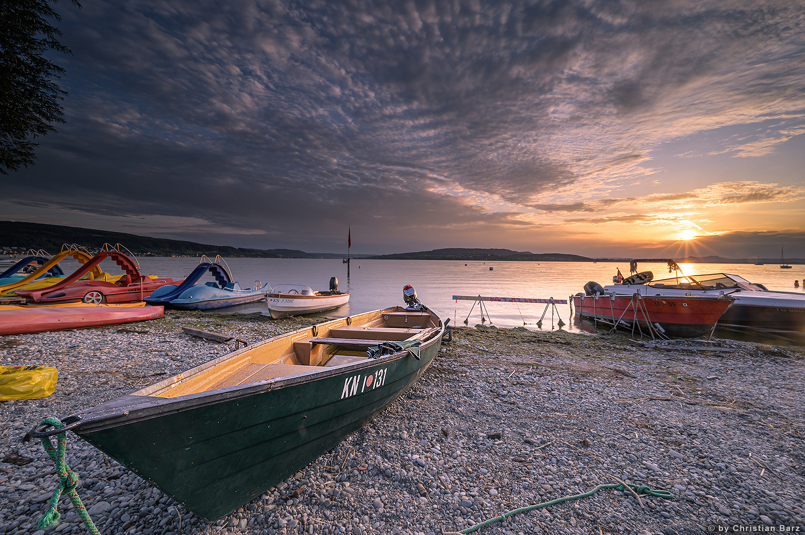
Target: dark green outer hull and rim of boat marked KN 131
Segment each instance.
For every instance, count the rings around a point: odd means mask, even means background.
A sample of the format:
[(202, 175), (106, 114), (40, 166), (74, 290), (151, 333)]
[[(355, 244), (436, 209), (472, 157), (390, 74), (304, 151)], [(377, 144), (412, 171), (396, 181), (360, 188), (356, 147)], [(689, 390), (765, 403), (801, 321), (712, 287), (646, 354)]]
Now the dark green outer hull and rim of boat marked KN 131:
[[(347, 325), (346, 319), (328, 323), (336, 322)], [(259, 352), (264, 344), (315, 335), (316, 328), (265, 340), (194, 369)], [(421, 344), (419, 360), (403, 351), (333, 367), (296, 366), (292, 369), (304, 371), (208, 392), (155, 395), (171, 381), (181, 384), (200, 373), (189, 370), (64, 423), (78, 422), (73, 431), (81, 438), (215, 520), (331, 450), (401, 396), (431, 364), (443, 333), (439, 321)]]

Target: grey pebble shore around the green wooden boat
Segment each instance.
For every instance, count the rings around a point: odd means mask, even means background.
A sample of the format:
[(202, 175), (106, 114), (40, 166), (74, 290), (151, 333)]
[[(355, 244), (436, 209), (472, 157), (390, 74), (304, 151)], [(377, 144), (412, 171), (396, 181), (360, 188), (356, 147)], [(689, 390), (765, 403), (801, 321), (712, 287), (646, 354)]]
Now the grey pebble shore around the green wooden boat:
[[(0, 364), (59, 369), (51, 397), (0, 402), (0, 535), (85, 533), (64, 498), (59, 524), (37, 531), (58, 480), (39, 442), (21, 438), (43, 418), (234, 349), (182, 327), (253, 343), (311, 323), (168, 311), (147, 323), (0, 337)], [(68, 434), (76, 490), (104, 534), (434, 535), (617, 478), (673, 498), (641, 505), (605, 489), (480, 533), (805, 533), (805, 348), (650, 348), (625, 335), (522, 327), (453, 332), (374, 422), (221, 521), (200, 519)]]

